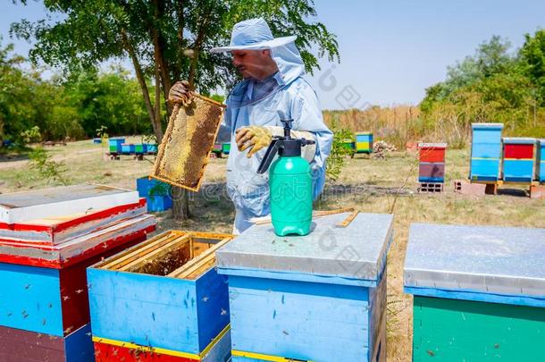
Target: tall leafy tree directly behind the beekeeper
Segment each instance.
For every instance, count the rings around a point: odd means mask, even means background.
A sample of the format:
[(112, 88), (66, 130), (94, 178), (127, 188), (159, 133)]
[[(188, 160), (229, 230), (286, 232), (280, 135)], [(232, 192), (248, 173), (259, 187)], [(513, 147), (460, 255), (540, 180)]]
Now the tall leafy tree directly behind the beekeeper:
[[(316, 15), (312, 0), (45, 0), (44, 4), (49, 12), (63, 13), (63, 20), (12, 25), (18, 37), (36, 39), (31, 59), (73, 71), (128, 56), (158, 140), (163, 138), (161, 98), (164, 103), (174, 81), (187, 79), (207, 94), (214, 88), (230, 88), (238, 80), (227, 57), (205, 51), (228, 43), (237, 21), (261, 16), (275, 36), (297, 35), (309, 72), (318, 67), (313, 51), (339, 59), (335, 36), (312, 20)], [(153, 102), (147, 79), (155, 83)], [(163, 108), (171, 114), (168, 104)], [(174, 200), (172, 213), (184, 219), (189, 217), (187, 194), (177, 193), (180, 199)]]

